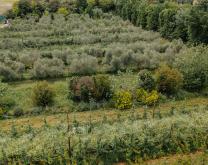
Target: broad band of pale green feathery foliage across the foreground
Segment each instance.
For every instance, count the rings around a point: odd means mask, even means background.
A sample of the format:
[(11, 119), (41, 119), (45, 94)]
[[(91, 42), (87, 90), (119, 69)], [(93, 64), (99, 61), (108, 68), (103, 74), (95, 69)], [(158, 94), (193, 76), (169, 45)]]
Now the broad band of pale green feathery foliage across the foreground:
[[(143, 154), (146, 158), (153, 158), (206, 149), (208, 113), (203, 107), (197, 110), (196, 112), (196, 108), (186, 109), (187, 114), (154, 120), (134, 119), (86, 125), (77, 123), (69, 132), (73, 150), (71, 159), (81, 164), (84, 161), (92, 163), (98, 160), (113, 164), (118, 160), (143, 158)], [(22, 133), (17, 132), (17, 137), (1, 134), (0, 160), (14, 155), (22, 161), (45, 160), (57, 164), (60, 160), (58, 157), (66, 160), (68, 159), (66, 130), (67, 125), (62, 123), (57, 127), (43, 127), (38, 130), (23, 129)], [(183, 130), (183, 133), (180, 130)], [(181, 142), (184, 145), (181, 145)], [(102, 147), (98, 147), (98, 144)], [(95, 157), (94, 152), (89, 151), (95, 151), (99, 155)], [(132, 156), (127, 156), (126, 151), (133, 153)], [(105, 159), (106, 155), (108, 159)], [(109, 159), (109, 156), (112, 159)]]

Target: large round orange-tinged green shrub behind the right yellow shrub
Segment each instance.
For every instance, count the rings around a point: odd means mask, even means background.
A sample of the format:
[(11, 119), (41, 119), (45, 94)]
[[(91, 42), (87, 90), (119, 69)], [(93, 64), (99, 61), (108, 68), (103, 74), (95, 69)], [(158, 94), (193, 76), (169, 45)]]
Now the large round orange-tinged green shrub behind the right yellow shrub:
[(163, 65), (156, 71), (158, 91), (167, 95), (177, 92), (182, 86), (183, 76), (177, 70)]

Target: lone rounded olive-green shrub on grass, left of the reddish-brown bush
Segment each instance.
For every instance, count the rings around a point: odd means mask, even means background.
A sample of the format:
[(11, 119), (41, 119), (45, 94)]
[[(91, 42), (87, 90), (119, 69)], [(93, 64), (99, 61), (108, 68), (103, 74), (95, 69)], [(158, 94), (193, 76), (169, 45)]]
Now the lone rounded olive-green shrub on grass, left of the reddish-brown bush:
[(37, 83), (33, 88), (32, 101), (35, 106), (46, 107), (54, 103), (54, 91), (46, 81)]

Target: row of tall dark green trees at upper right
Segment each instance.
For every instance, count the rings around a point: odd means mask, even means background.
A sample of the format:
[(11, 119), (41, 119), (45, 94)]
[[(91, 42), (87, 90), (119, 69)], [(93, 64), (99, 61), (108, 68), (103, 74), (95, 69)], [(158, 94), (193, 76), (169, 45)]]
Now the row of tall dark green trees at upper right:
[(168, 39), (208, 43), (207, 0), (195, 5), (149, 4), (146, 0), (118, 0), (117, 13), (144, 29), (159, 31)]

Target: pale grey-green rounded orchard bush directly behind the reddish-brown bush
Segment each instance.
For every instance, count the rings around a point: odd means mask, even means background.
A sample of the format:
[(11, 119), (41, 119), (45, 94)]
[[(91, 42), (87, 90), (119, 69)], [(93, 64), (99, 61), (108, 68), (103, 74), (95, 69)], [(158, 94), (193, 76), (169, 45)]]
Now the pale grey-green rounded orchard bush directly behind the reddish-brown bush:
[(72, 60), (70, 71), (73, 74), (91, 75), (97, 72), (98, 61), (96, 57), (87, 56)]

